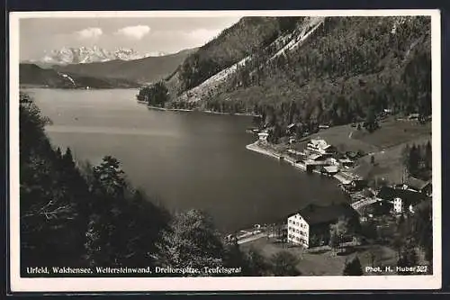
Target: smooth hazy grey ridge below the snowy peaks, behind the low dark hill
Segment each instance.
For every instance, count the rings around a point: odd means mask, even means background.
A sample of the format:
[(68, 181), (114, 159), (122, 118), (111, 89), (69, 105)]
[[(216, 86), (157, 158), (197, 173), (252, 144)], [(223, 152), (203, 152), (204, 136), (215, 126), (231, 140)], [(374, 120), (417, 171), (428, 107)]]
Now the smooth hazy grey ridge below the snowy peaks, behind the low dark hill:
[(116, 59), (105, 62), (53, 66), (53, 68), (60, 72), (82, 76), (120, 78), (146, 84), (169, 76), (194, 51), (195, 49), (189, 49), (160, 57), (128, 61)]

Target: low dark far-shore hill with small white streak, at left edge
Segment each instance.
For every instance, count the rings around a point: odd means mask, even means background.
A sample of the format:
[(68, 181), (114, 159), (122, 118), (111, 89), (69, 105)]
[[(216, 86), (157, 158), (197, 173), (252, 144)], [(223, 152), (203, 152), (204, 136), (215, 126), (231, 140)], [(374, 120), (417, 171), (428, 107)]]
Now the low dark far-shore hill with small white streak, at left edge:
[(62, 73), (51, 68), (40, 68), (35, 64), (20, 64), (19, 83), (21, 86), (53, 88), (128, 88), (139, 86), (130, 80)]

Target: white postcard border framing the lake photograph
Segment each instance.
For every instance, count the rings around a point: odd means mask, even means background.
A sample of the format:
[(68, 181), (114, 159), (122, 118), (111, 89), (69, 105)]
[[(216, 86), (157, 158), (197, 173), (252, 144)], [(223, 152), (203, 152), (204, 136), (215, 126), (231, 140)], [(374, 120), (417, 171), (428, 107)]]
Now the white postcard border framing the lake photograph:
[[(23, 278), (20, 277), (19, 204), (19, 20), (81, 17), (224, 17), (253, 16), (431, 16), (432, 147), (433, 147), (433, 275), (316, 277), (181, 277), (181, 278)], [(438, 289), (442, 280), (441, 249), (441, 24), (438, 10), (309, 10), (309, 11), (160, 11), (160, 12), (14, 12), (10, 18), (10, 279), (13, 292), (131, 291), (297, 291)]]

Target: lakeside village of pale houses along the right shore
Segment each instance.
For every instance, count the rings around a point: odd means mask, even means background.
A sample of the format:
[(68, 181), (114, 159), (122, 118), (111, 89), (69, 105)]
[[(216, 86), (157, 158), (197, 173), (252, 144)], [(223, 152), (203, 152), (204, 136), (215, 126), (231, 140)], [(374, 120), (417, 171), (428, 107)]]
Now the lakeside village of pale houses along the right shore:
[[(289, 125), (287, 130), (293, 131), (294, 126), (295, 124)], [(354, 127), (354, 124), (349, 126)], [(229, 234), (225, 237), (228, 242), (237, 242), (245, 246), (261, 244), (270, 239), (283, 243), (283, 248), (300, 248), (303, 252), (338, 249), (338, 252), (333, 252), (351, 253), (352, 250), (355, 251), (355, 247), (361, 245), (383, 245), (387, 244), (387, 241), (383, 240), (391, 238), (392, 241), (392, 237), (401, 238), (401, 233), (396, 232), (399, 219), (410, 218), (417, 212), (419, 206), (431, 203), (431, 180), (424, 181), (405, 176), (398, 183), (369, 185), (368, 178), (354, 172), (359, 160), (363, 159), (365, 154), (341, 152), (319, 135), (315, 135), (314, 138), (303, 137), (301, 141), (295, 141), (290, 137), (286, 149), (275, 150), (274, 145), (267, 141), (269, 136), (267, 130), (248, 129), (247, 132), (258, 136), (255, 143), (247, 145), (248, 150), (279, 159), (308, 173), (336, 178), (338, 186), (348, 195), (349, 202), (325, 206), (307, 205), (281, 218), (279, 223), (255, 224), (251, 229)], [(298, 150), (299, 144), (303, 145), (303, 150)], [(345, 229), (339, 231), (338, 223), (342, 223), (343, 220), (346, 221)], [(367, 241), (365, 234), (354, 230), (367, 223), (373, 224), (374, 232), (377, 232), (374, 233), (372, 241)], [(338, 237), (333, 237), (330, 233), (333, 232), (333, 228), (338, 231)], [(266, 245), (260, 248), (265, 247)], [(392, 251), (391, 255), (395, 257), (395, 251)]]

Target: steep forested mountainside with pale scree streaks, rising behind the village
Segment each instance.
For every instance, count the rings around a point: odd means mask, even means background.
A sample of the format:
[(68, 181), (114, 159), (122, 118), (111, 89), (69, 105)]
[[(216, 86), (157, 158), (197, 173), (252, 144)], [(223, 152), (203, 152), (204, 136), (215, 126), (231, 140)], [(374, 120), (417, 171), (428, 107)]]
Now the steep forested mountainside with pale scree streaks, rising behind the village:
[[(184, 61), (177, 86), (166, 82), (166, 106), (262, 114), (267, 125), (308, 130), (383, 109), (431, 114), (429, 17), (312, 19), (243, 18)], [(202, 84), (243, 59), (220, 83)], [(192, 88), (200, 84), (201, 93)]]

